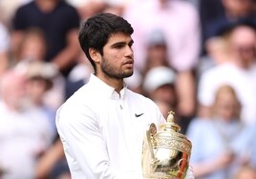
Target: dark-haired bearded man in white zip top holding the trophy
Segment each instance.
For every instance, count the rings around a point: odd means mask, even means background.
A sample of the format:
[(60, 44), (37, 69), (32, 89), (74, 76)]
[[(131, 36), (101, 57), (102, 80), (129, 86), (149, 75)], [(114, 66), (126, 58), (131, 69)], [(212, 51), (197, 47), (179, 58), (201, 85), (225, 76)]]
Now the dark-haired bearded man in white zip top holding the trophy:
[(155, 103), (123, 83), (133, 74), (133, 31), (111, 13), (96, 14), (79, 31), (81, 48), (95, 73), (56, 114), (75, 179), (142, 178), (145, 131), (151, 123), (165, 122)]

